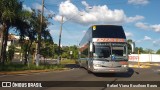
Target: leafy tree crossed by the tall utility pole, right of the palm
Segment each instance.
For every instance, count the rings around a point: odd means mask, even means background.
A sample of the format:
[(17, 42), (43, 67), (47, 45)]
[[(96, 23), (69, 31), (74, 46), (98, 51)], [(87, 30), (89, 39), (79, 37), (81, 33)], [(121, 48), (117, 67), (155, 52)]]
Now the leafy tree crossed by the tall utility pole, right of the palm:
[[(25, 20), (27, 21), (27, 25), (18, 25), (21, 27), (19, 28), (23, 28), (23, 30), (19, 30), (20, 32), (20, 43), (22, 46), (22, 51), (23, 51), (23, 56), (24, 56), (24, 64), (27, 64), (27, 59), (28, 59), (28, 55), (33, 51), (33, 47), (32, 44), (33, 42), (37, 43), (37, 38), (38, 38), (38, 32), (40, 30), (40, 19), (41, 19), (41, 12), (40, 11), (36, 11), (36, 10), (32, 10), (33, 12), (25, 12)], [(17, 23), (19, 24), (19, 23)], [(27, 26), (27, 27), (26, 27)], [(48, 40), (51, 43), (53, 43), (52, 41), (52, 37), (49, 33), (49, 30), (47, 29), (48, 27), (48, 18), (43, 16), (43, 23), (42, 23), (42, 40)], [(25, 30), (24, 30), (25, 29)], [(24, 37), (28, 37), (29, 40), (25, 40)], [(25, 43), (24, 43), (25, 42)], [(24, 48), (25, 46), (25, 48)], [(31, 50), (32, 47), (32, 50)], [(35, 49), (34, 49), (35, 51)], [(32, 53), (33, 54), (33, 53)]]

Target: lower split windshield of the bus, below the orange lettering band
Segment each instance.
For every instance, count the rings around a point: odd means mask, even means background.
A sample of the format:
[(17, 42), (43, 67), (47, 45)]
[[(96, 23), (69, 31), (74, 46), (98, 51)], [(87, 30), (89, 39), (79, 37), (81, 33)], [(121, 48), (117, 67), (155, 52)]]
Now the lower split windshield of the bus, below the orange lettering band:
[(93, 57), (107, 60), (127, 60), (127, 47), (125, 44), (95, 45)]

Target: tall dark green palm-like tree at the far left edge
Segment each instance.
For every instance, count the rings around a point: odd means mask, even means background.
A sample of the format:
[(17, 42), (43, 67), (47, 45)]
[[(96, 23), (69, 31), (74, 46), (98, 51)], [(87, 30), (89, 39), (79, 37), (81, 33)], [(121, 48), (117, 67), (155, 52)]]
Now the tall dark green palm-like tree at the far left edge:
[(22, 2), (19, 0), (0, 0), (0, 24), (2, 25), (2, 48), (0, 59), (3, 64), (5, 64), (6, 61), (6, 46), (9, 28), (13, 27), (13, 24), (17, 22), (17, 20), (22, 21), (19, 17), (22, 11)]

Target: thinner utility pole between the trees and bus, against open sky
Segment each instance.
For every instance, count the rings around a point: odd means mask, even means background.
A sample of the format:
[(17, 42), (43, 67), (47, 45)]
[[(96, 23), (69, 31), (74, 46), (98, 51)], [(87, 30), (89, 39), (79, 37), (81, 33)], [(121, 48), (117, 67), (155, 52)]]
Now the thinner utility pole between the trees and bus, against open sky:
[(61, 26), (60, 26), (60, 32), (59, 32), (59, 44), (58, 44), (58, 64), (61, 60), (61, 35), (62, 35), (62, 26), (63, 26), (63, 16), (61, 19)]

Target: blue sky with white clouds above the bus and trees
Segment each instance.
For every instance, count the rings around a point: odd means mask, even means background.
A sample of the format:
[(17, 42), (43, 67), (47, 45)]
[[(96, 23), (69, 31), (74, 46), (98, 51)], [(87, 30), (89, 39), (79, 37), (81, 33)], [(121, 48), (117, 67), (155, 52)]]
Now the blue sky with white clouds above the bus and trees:
[[(41, 10), (42, 0), (23, 0), (23, 9)], [(122, 25), (136, 47), (160, 49), (160, 0), (44, 0), (44, 15), (52, 15), (48, 29), (58, 44), (78, 45), (91, 25)], [(31, 9), (32, 8), (32, 9)]]

